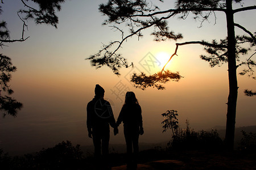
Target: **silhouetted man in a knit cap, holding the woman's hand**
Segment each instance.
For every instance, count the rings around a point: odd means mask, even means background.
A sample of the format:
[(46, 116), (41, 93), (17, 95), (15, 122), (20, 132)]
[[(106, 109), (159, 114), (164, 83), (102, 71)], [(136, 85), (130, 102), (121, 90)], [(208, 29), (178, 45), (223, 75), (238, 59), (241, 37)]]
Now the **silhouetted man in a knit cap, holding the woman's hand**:
[(109, 154), (109, 125), (118, 133), (115, 118), (109, 101), (104, 100), (104, 88), (96, 84), (95, 96), (87, 104), (87, 129), (89, 138), (93, 138), (94, 156)]

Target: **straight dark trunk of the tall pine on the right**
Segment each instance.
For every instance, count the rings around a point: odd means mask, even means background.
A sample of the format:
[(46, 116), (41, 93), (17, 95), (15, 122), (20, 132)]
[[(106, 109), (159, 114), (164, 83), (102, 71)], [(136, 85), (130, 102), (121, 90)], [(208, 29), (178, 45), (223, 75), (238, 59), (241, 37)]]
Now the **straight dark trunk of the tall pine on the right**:
[(234, 149), (234, 131), (236, 124), (237, 107), (237, 66), (236, 66), (236, 38), (234, 32), (234, 14), (232, 0), (226, 0), (226, 23), (228, 28), (228, 75), (229, 75), (229, 97), (228, 113), (226, 114), (226, 147)]

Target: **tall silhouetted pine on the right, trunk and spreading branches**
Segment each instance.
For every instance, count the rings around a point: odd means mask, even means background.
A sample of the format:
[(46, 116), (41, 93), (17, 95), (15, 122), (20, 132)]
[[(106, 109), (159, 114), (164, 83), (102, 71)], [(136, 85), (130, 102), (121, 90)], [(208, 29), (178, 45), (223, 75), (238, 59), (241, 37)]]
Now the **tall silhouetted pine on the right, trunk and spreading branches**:
[[(162, 0), (159, 1), (163, 2)], [(233, 9), (234, 3), (240, 4), (241, 7)], [(187, 19), (187, 16), (192, 14), (195, 20), (200, 21), (200, 27), (202, 27), (203, 23), (208, 21), (209, 16), (213, 15), (216, 21), (216, 11), (224, 12), (226, 16), (227, 37), (220, 41), (212, 40), (212, 42), (202, 40), (176, 43), (175, 52), (168, 62), (170, 62), (172, 57), (177, 55), (179, 46), (200, 44), (204, 46), (205, 52), (208, 53), (207, 56), (201, 55), (200, 58), (208, 61), (211, 67), (228, 63), (229, 96), (225, 141), (228, 149), (233, 150), (238, 95), (237, 68), (246, 66), (246, 69), (242, 70), (240, 75), (246, 74), (255, 79), (253, 76), (253, 67), (256, 66), (256, 63), (252, 59), (256, 52), (251, 52), (251, 50), (255, 50), (253, 48), (255, 48), (256, 44), (256, 33), (253, 34), (242, 25), (234, 23), (234, 14), (256, 9), (256, 6), (243, 7), (243, 3), (245, 2), (242, 0), (179, 0), (175, 1), (175, 8), (160, 11), (158, 6), (152, 4), (151, 1), (109, 0), (108, 3), (101, 4), (99, 8), (102, 14), (108, 16), (108, 19), (103, 24), (113, 24), (112, 27), (121, 32), (121, 40), (112, 41), (109, 45), (104, 45), (100, 52), (90, 56), (88, 59), (90, 59), (93, 66), (108, 66), (115, 74), (119, 74), (119, 67), (128, 67), (129, 65), (121, 54), (117, 54), (117, 51), (121, 48), (123, 42), (130, 37), (142, 37), (142, 31), (144, 29), (154, 28), (151, 35), (155, 36), (155, 41), (165, 41), (168, 39), (177, 41), (183, 39), (183, 36), (181, 33), (170, 31), (167, 22), (168, 19), (174, 18), (177, 15), (180, 16), (180, 19)], [(126, 24), (129, 27), (129, 35), (125, 36), (125, 32), (120, 26), (122, 24)], [(235, 27), (242, 29), (246, 35), (235, 35)], [(241, 56), (246, 56), (246, 54), (248, 58), (241, 61)], [(146, 87), (164, 89), (159, 83), (166, 83), (170, 79), (173, 80), (172, 76), (168, 76), (172, 73), (164, 70), (165, 66), (159, 74), (149, 76), (143, 73), (141, 75), (134, 74), (131, 82), (135, 84), (135, 87), (142, 89)], [(174, 80), (179, 80), (179, 78), (180, 76), (175, 76)], [(255, 92), (245, 90), (245, 94), (254, 96)]]

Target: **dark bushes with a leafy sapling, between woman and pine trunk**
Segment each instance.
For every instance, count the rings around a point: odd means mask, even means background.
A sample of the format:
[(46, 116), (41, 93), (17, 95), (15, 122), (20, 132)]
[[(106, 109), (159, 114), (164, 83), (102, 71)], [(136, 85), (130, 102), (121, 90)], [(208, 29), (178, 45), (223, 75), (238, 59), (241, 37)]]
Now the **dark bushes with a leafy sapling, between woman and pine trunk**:
[(164, 120), (163, 133), (168, 129), (172, 130), (172, 139), (168, 142), (171, 150), (221, 150), (224, 147), (224, 141), (219, 137), (217, 130), (198, 131), (189, 127), (189, 121), (186, 120), (187, 128), (179, 128), (177, 111), (171, 110), (163, 113)]

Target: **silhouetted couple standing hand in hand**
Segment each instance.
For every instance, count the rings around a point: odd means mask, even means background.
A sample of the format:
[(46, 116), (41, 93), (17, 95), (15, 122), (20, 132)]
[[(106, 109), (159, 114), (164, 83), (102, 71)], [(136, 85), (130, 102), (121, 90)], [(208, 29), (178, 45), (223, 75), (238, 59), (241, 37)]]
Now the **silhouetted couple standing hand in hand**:
[(105, 159), (108, 159), (110, 126), (114, 129), (114, 135), (117, 135), (118, 126), (123, 122), (123, 133), (125, 135), (127, 151), (127, 169), (136, 168), (139, 152), (139, 135), (142, 135), (144, 130), (141, 106), (134, 92), (126, 93), (125, 103), (119, 113), (117, 122), (115, 122), (109, 101), (104, 100), (104, 88), (96, 84), (94, 92), (95, 96), (86, 108), (88, 136), (93, 139), (94, 156), (100, 158), (102, 155)]

